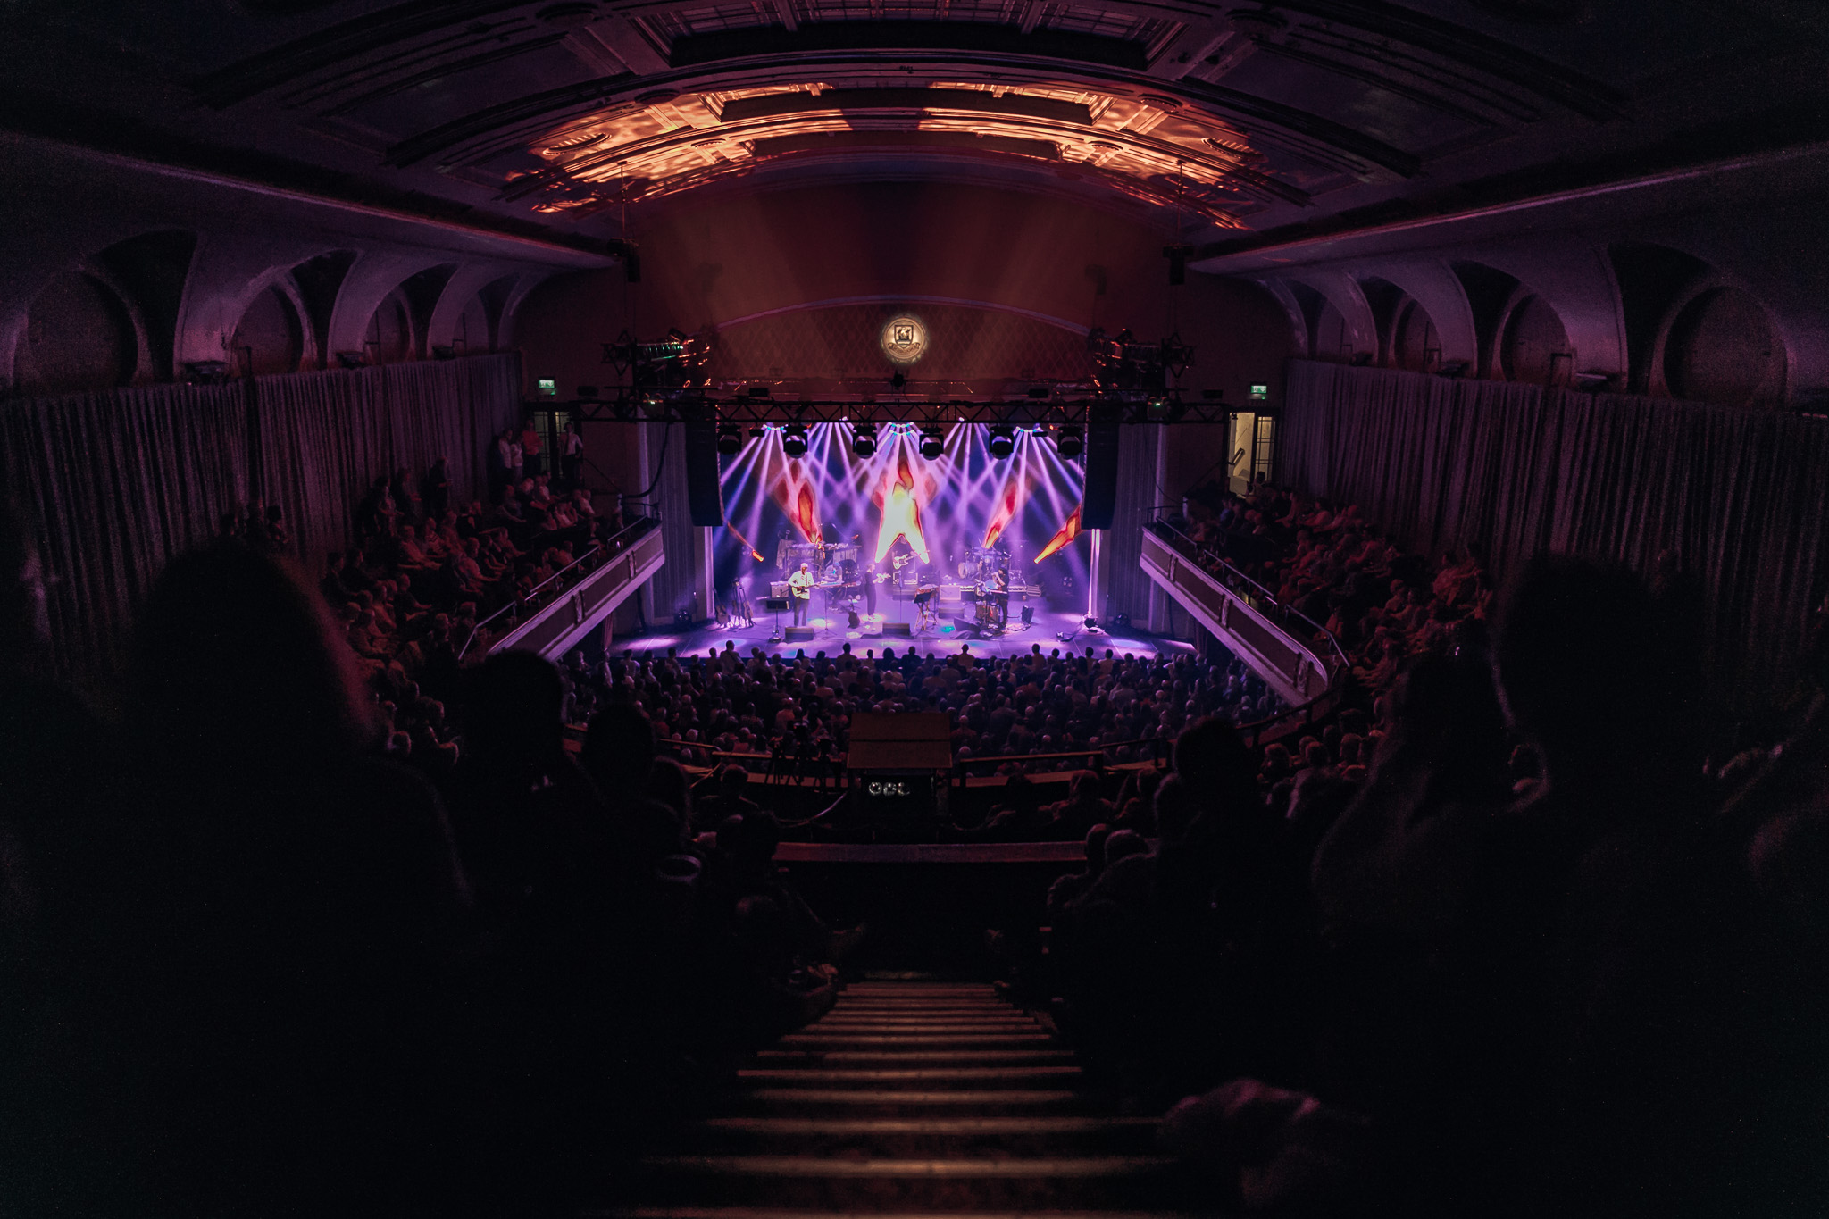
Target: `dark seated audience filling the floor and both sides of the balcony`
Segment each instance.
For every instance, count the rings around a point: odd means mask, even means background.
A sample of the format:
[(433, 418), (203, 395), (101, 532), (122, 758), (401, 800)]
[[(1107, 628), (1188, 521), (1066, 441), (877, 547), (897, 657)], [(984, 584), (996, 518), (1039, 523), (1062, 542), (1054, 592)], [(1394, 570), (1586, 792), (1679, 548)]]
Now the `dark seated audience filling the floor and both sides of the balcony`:
[[(1094, 1087), (1167, 1109), (1211, 1210), (1829, 1208), (1829, 631), (1785, 738), (1723, 762), (1679, 581), (1540, 559), (1498, 598), (1478, 556), (1412, 565), (1258, 486), (1191, 526), (1364, 674), (1253, 751), (1267, 694), (1193, 656), (459, 667), (410, 492), (375, 484), (315, 588), (265, 506), (170, 563), (112, 718), (40, 671), (0, 512), (9, 1214), (571, 1210), (825, 1011), (858, 939), (774, 866), (768, 784), (680, 764), (823, 764), (867, 709), (1011, 758), (988, 833), (1085, 843), (1046, 952), (997, 943)], [(512, 581), (525, 556), (452, 528)], [(1077, 757), (1039, 799), (1030, 768)]]

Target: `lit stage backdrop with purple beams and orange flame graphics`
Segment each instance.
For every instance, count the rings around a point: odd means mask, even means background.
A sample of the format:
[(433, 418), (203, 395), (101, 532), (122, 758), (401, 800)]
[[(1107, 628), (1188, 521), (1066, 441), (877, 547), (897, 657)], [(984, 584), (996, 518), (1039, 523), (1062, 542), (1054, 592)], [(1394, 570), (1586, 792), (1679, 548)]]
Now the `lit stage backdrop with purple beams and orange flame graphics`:
[[(929, 461), (909, 424), (880, 426), (871, 457), (850, 451), (847, 424), (814, 424), (807, 455), (796, 461), (783, 453), (781, 431), (768, 428), (722, 464), (730, 528), (715, 539), (717, 583), (766, 590), (785, 579), (783, 543), (816, 539), (854, 545), (860, 568), (887, 570), (889, 550), (905, 537), (927, 568), (924, 581), (971, 585), (982, 578), (971, 570), (973, 550), (995, 546), (1030, 585), (1083, 599), (1088, 552), (1085, 541), (1075, 545), (1083, 486), (1081, 464), (1028, 429), (1017, 433), (1011, 457), (995, 461), (980, 424), (953, 424), (940, 457)], [(1037, 568), (1043, 554), (1046, 568)], [(827, 563), (827, 579), (836, 579), (838, 559)], [(887, 590), (883, 598), (878, 610), (891, 610)]]

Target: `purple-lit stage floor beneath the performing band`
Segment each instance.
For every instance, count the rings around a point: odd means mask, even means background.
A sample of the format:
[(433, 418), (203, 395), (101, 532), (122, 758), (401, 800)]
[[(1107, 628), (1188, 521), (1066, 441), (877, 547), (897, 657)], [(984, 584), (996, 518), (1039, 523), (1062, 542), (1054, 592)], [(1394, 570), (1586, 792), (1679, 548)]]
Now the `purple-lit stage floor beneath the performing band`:
[[(682, 656), (690, 652), (699, 652), (702, 656), (713, 647), (722, 651), (724, 641), (728, 640), (735, 643), (737, 651), (744, 656), (750, 654), (752, 647), (763, 649), (768, 656), (794, 656), (801, 651), (808, 656), (816, 656), (819, 652), (836, 656), (843, 651), (845, 643), (850, 643), (850, 651), (860, 656), (865, 651), (874, 651), (882, 656), (885, 647), (893, 647), (898, 656), (907, 647), (914, 647), (924, 656), (927, 652), (951, 656), (958, 652), (960, 643), (968, 645), (973, 656), (1026, 656), (1032, 643), (1041, 643), (1043, 654), (1054, 649), (1061, 649), (1063, 652), (1072, 649), (1074, 652), (1085, 654), (1088, 647), (1099, 656), (1105, 654), (1105, 649), (1112, 649), (1119, 656), (1125, 652), (1130, 652), (1132, 656), (1180, 656), (1193, 654), (1194, 651), (1193, 643), (1183, 643), (1182, 640), (1171, 640), (1167, 636), (1154, 636), (1134, 627), (1116, 634), (1107, 632), (1105, 629), (1088, 631), (1083, 616), (1050, 610), (1039, 601), (1032, 605), (1035, 607), (1035, 616), (1028, 627), (1017, 621), (1004, 634), (984, 640), (962, 634), (951, 616), (942, 618), (940, 629), (916, 632), (911, 638), (865, 634), (861, 627), (847, 627), (847, 618), (827, 620), (816, 616), (807, 623), (814, 627), (814, 636), (805, 641), (790, 643), (785, 636), (792, 618), (788, 614), (781, 614), (781, 632), (770, 640), (770, 634), (774, 634), (775, 629), (775, 616), (761, 614), (757, 616), (754, 627), (721, 629), (717, 623), (706, 623), (691, 631), (655, 627), (646, 634), (616, 636), (611, 649), (616, 652), (624, 649), (635, 652), (664, 652), (673, 647), (679, 649)], [(1070, 641), (1063, 641), (1059, 638), (1061, 634), (1075, 631), (1077, 634), (1074, 634)]]

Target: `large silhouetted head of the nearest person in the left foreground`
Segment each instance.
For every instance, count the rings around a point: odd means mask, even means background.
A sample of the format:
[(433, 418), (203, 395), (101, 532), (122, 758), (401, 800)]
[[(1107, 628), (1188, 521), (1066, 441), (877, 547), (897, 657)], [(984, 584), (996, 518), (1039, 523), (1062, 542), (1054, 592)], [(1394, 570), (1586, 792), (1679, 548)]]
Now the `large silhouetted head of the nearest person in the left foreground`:
[(243, 546), (172, 559), (139, 616), (128, 722), (225, 764), (358, 749), (375, 737), (357, 662), (293, 567)]

